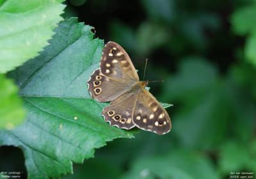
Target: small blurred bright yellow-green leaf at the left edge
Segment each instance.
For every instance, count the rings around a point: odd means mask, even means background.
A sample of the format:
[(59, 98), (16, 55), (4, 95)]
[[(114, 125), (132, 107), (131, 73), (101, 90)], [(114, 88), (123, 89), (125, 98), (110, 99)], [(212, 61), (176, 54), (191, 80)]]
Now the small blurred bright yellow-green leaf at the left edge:
[(5, 75), (0, 74), (0, 129), (12, 129), (25, 117), (22, 100), (17, 96), (18, 87)]

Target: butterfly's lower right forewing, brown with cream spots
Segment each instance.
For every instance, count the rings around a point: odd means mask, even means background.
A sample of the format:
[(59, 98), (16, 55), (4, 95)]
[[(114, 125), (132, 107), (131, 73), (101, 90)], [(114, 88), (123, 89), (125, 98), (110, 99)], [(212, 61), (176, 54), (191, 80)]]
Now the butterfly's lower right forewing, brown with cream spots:
[(145, 89), (138, 95), (132, 120), (140, 129), (156, 132), (157, 134), (166, 134), (172, 127), (166, 110)]

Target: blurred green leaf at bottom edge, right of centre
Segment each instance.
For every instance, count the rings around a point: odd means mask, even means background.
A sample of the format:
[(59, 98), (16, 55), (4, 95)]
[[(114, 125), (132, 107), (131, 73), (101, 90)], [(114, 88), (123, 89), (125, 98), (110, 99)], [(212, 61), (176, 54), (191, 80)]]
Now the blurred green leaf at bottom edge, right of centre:
[(137, 159), (123, 179), (134, 178), (218, 178), (213, 164), (205, 155), (173, 150), (164, 155)]

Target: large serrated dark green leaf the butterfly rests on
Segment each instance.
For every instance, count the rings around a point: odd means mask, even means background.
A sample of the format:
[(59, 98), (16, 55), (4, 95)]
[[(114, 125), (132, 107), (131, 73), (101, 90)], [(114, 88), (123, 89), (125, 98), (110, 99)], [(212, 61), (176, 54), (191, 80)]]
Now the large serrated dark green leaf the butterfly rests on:
[(99, 68), (104, 43), (93, 39), (77, 18), (60, 23), (50, 46), (9, 76), (20, 87), (26, 122), (0, 132), (0, 145), (22, 148), (29, 178), (57, 178), (72, 173), (72, 162), (93, 157), (94, 148), (138, 130), (111, 127), (101, 116), (108, 103), (90, 97), (86, 82)]

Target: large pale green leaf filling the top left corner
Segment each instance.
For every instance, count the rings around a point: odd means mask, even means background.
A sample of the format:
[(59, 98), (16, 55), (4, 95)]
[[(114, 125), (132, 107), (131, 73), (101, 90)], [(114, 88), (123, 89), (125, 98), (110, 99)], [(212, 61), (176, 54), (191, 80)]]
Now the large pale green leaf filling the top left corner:
[(0, 73), (20, 66), (48, 45), (62, 20), (63, 0), (6, 0), (0, 3)]

